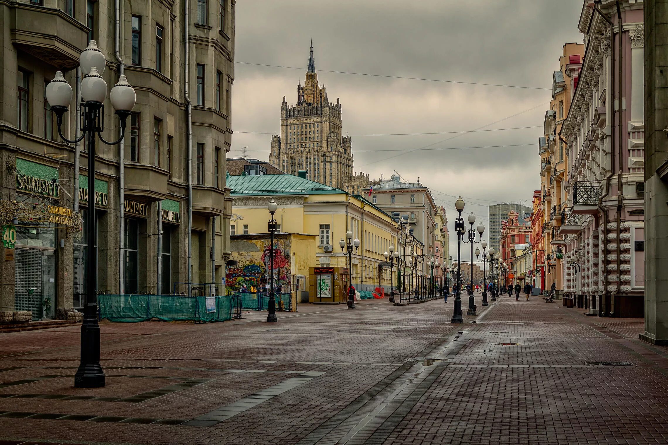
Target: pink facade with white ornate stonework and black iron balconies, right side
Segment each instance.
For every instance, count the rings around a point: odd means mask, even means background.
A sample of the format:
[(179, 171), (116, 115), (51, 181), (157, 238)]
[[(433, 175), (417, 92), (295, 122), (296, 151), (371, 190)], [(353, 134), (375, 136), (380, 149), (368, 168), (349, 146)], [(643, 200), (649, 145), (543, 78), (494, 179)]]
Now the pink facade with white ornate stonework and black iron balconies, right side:
[[(585, 0), (568, 150), (564, 294), (599, 316), (644, 314), (643, 1)], [(611, 22), (611, 23), (609, 23)], [(612, 37), (611, 37), (612, 36)]]

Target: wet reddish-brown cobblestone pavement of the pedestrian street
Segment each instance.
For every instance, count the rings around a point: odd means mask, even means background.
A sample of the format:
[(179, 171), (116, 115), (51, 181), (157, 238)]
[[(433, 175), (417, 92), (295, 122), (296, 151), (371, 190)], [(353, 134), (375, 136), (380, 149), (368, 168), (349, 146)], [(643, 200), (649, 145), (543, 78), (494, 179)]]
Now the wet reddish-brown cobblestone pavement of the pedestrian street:
[(668, 444), (642, 320), (477, 296), (452, 325), (453, 301), (102, 322), (96, 389), (73, 388), (78, 328), (0, 334), (0, 445)]

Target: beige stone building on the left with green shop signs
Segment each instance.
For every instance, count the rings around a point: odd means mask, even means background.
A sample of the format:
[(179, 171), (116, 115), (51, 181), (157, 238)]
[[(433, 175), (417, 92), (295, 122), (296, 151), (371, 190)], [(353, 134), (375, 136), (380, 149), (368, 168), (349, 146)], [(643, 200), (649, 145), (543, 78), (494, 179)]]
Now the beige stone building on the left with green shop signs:
[[(79, 53), (90, 40), (106, 57), (109, 87), (123, 73), (137, 94), (124, 142), (97, 144), (98, 292), (168, 294), (175, 284), (187, 292), (178, 283), (189, 278), (207, 284), (194, 292), (215, 292), (210, 284), (222, 283), (234, 4), (190, 0), (186, 16), (171, 0), (118, 10), (111, 0), (0, 3), (0, 216), (16, 234), (0, 254), (0, 314), (55, 318), (83, 304), (89, 249), (78, 229), (90, 215), (88, 147), (57, 135), (45, 85), (63, 71), (76, 95)], [(68, 139), (77, 134), (76, 104), (63, 119)], [(102, 136), (117, 139), (119, 127), (107, 101)]]

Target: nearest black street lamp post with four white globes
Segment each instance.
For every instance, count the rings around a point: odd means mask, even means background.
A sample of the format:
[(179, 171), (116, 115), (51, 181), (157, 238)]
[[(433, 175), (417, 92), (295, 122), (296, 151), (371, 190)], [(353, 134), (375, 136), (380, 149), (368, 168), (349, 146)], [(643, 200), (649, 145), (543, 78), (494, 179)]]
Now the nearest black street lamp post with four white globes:
[[(88, 243), (88, 259), (86, 260), (86, 302), (83, 308), (83, 322), (81, 324), (81, 356), (79, 368), (74, 374), (76, 388), (100, 388), (106, 383), (104, 370), (100, 366), (100, 325), (98, 324), (98, 271), (95, 254), (95, 157), (96, 133), (100, 141), (107, 145), (116, 145), (125, 136), (126, 119), (130, 115), (136, 101), (136, 93), (128, 83), (128, 79), (121, 75), (118, 83), (112, 88), (110, 101), (120, 120), (121, 135), (118, 141), (108, 142), (102, 137), (104, 131), (104, 100), (107, 96), (107, 83), (102, 79), (106, 67), (106, 60), (102, 51), (94, 40), (79, 57), (81, 71), (86, 77), (81, 81), (81, 136), (71, 141), (63, 136), (61, 125), (63, 114), (67, 111), (72, 100), (72, 87), (63, 77), (61, 71), (46, 87), (46, 97), (51, 110), (56, 115), (58, 134), (63, 141), (77, 143), (88, 136), (88, 219), (86, 221), (86, 242)], [(79, 123), (76, 123), (79, 125)]]

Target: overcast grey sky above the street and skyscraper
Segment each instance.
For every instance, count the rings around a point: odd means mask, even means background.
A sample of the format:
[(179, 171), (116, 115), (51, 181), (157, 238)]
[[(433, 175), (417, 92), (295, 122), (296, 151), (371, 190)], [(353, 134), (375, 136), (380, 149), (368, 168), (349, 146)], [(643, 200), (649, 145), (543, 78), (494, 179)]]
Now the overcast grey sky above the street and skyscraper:
[[(474, 211), (487, 224), (486, 205), (530, 206), (540, 188), (538, 137), (552, 71), (562, 45), (582, 41), (581, 9), (582, 0), (239, 0), (228, 157), (247, 147), (247, 157), (269, 159), (281, 101), (285, 95), (289, 105), (297, 102), (313, 39), (318, 79), (330, 101), (341, 99), (355, 171), (389, 178), (396, 170), (408, 181), (420, 177), (437, 203), (446, 205), (450, 254), (456, 258), (458, 195), (467, 202), (464, 212)], [(535, 128), (363, 136), (513, 127)]]

